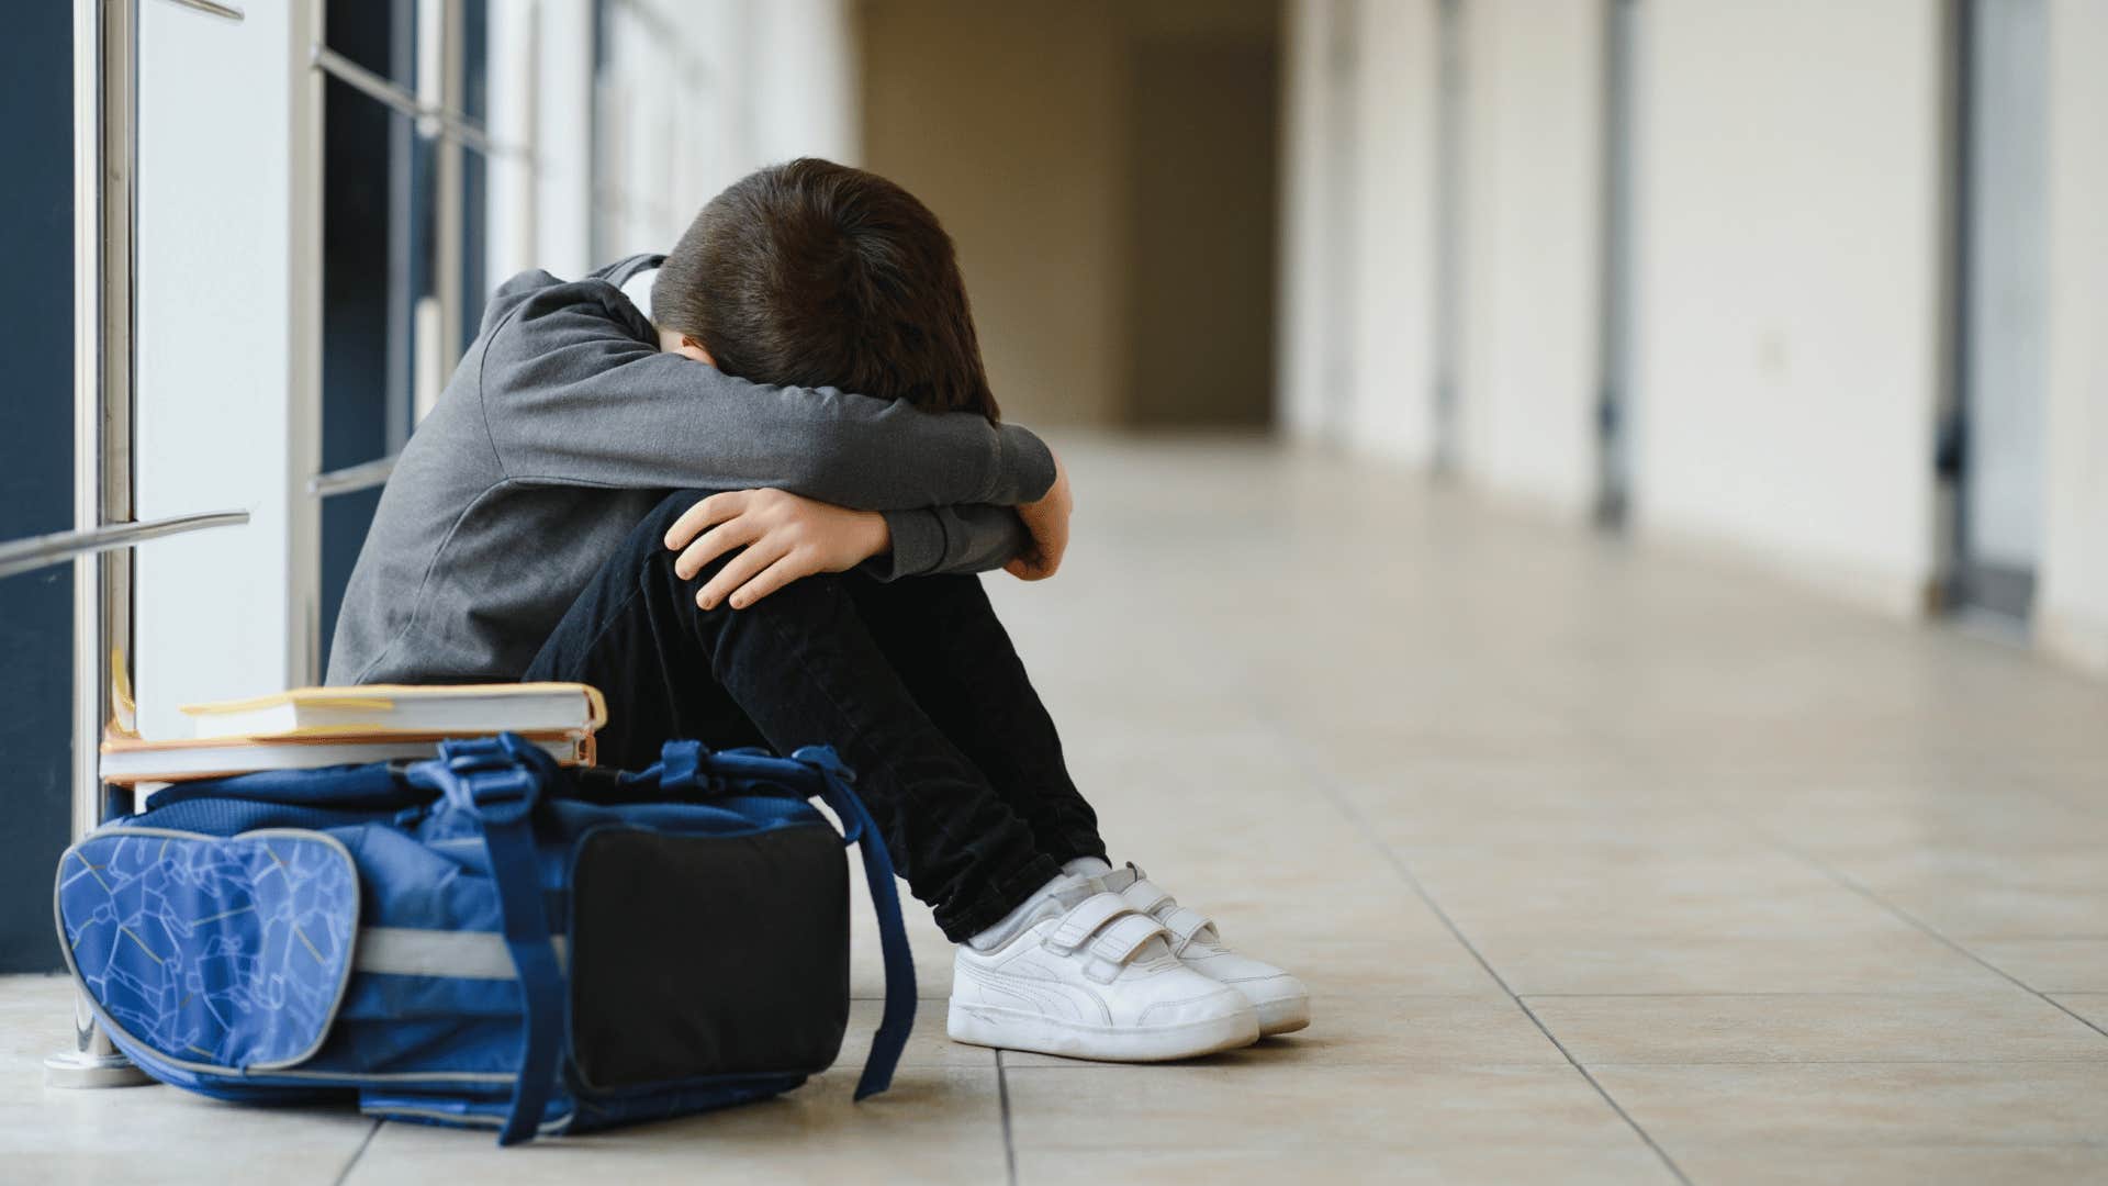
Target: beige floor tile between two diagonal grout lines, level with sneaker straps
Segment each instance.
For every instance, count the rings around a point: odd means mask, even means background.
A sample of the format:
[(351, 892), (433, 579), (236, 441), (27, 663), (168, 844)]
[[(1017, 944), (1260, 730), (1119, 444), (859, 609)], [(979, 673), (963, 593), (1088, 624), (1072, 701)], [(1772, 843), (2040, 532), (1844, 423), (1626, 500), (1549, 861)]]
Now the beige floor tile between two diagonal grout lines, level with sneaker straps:
[(1682, 935), (1480, 935), (1507, 986), (1535, 994), (1619, 992), (1996, 992), (2011, 983), (1920, 931), (1716, 939)]

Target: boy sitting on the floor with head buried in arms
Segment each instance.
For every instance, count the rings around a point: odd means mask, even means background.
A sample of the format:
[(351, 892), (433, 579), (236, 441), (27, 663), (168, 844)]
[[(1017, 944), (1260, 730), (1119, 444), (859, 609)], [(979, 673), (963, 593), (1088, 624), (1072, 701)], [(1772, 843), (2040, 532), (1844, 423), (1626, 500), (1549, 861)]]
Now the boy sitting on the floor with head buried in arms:
[(331, 684), (592, 684), (620, 766), (835, 745), (959, 943), (955, 1040), (1143, 1061), (1299, 1030), (1294, 977), (1107, 863), (972, 576), (1052, 576), (1067, 521), (936, 217), (793, 160), (666, 257), (493, 293), (382, 494)]

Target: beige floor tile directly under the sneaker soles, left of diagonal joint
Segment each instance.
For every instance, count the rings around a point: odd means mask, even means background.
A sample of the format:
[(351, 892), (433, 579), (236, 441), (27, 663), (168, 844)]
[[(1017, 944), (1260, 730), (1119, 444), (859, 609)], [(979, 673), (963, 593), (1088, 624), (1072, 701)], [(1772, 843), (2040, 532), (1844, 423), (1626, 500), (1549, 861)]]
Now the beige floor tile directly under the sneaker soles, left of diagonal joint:
[[(1256, 1078), (1328, 1066), (1421, 1064), (1566, 1066), (1566, 1057), (1505, 996), (1315, 996), (1307, 1030), (1206, 1059), (1210, 1068)], [(1003, 1066), (1086, 1064), (1003, 1051)]]

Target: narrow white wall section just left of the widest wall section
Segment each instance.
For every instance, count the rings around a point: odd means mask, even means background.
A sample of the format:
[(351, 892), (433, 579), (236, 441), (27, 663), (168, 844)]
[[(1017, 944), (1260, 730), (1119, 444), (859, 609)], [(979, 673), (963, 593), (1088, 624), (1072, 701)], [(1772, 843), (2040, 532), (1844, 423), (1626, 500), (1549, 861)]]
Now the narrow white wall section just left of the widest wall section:
[(1602, 0), (1465, 13), (1463, 473), (1579, 515), (1596, 496)]

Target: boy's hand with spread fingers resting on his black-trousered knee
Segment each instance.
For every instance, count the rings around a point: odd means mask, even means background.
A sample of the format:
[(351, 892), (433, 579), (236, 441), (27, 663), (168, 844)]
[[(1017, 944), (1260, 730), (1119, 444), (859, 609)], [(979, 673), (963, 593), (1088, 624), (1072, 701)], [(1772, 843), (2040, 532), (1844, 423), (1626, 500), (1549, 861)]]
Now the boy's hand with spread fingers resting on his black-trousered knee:
[(801, 576), (847, 572), (894, 547), (894, 538), (877, 511), (850, 511), (786, 490), (734, 490), (689, 506), (666, 532), (666, 547), (687, 549), (672, 561), (683, 580), (742, 549), (696, 593), (696, 604), (715, 610), (729, 599), (744, 610)]

